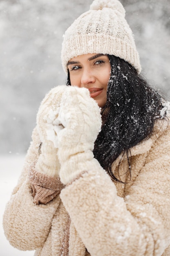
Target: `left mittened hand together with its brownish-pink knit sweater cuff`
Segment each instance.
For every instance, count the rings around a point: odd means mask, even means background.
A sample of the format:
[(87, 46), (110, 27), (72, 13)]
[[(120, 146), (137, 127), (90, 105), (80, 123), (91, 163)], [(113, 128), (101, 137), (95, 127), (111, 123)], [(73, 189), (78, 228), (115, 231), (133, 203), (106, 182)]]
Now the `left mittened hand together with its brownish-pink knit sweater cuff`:
[(38, 161), (29, 170), (29, 181), (33, 190), (35, 204), (47, 204), (64, 187), (60, 182), (60, 163), (55, 144), (56, 118), (60, 101), (66, 85), (57, 86), (46, 94), (37, 113), (37, 130), (42, 142)]

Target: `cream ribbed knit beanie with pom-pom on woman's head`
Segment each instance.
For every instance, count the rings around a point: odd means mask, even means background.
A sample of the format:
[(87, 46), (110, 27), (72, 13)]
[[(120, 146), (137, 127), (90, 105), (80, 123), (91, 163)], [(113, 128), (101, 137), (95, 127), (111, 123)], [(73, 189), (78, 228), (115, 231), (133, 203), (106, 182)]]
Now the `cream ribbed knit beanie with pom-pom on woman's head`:
[(141, 72), (133, 34), (118, 0), (94, 0), (90, 10), (66, 30), (61, 54), (66, 74), (71, 58), (89, 53), (115, 55)]

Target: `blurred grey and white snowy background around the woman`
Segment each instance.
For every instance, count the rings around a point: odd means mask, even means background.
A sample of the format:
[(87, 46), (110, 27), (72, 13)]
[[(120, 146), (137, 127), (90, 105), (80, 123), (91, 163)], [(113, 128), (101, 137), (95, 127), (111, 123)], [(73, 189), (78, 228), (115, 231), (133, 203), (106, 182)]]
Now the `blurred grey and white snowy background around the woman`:
[[(62, 35), (92, 0), (0, 0), (0, 222), (35, 126), (40, 101), (64, 84)], [(121, 0), (141, 57), (142, 74), (170, 97), (170, 0)], [(13, 249), (0, 225), (0, 255)]]

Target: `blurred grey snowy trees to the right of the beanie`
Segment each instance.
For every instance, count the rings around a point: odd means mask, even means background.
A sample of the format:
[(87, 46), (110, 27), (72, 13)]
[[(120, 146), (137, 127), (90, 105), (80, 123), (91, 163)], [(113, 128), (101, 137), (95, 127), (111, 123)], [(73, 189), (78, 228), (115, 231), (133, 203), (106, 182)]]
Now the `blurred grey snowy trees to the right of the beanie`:
[(124, 0), (143, 74), (170, 96), (170, 1)]

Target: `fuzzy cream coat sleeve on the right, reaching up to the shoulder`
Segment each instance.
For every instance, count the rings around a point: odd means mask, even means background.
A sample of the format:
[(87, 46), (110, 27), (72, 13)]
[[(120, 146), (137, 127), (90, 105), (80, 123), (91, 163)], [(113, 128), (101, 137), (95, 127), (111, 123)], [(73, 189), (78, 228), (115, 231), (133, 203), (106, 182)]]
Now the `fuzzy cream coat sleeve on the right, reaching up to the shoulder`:
[(170, 244), (170, 129), (155, 141), (125, 198), (99, 166), (60, 194), (91, 256), (161, 256)]

